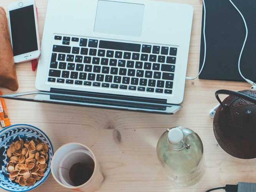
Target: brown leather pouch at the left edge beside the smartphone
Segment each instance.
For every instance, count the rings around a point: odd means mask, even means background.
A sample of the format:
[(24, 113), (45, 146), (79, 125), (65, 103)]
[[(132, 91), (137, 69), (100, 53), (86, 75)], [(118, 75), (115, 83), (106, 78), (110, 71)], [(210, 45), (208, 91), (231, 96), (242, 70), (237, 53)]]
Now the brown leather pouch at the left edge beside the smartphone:
[(0, 87), (12, 91), (17, 91), (19, 88), (8, 22), (3, 7), (0, 7)]

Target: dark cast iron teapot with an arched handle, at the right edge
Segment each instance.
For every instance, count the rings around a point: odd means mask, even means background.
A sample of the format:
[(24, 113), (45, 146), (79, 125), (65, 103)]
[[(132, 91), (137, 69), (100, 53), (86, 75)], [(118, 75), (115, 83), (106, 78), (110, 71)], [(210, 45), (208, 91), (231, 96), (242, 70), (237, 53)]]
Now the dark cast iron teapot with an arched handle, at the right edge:
[[(219, 94), (229, 95), (221, 101)], [(220, 103), (213, 121), (214, 135), (224, 151), (242, 158), (256, 158), (256, 91), (216, 91)]]

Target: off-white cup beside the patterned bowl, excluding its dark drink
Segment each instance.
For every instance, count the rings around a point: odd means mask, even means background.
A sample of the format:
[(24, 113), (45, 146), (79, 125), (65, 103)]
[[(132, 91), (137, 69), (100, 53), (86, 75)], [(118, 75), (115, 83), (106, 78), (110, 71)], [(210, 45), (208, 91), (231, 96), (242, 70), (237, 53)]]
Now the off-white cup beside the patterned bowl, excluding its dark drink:
[[(79, 186), (76, 186), (69, 177), (69, 170), (76, 163), (94, 166), (91, 178)], [(98, 190), (104, 180), (95, 155), (88, 147), (80, 143), (67, 143), (60, 147), (52, 157), (51, 171), (52, 176), (60, 185), (81, 192)]]

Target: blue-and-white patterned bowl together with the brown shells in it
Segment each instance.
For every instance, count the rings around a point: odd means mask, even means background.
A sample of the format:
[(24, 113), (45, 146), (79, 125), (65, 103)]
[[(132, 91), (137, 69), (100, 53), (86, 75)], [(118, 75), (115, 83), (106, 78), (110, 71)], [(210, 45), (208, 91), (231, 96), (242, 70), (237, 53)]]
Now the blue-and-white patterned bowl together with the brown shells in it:
[(0, 131), (0, 187), (26, 192), (39, 187), (51, 173), (52, 143), (31, 125), (12, 125)]

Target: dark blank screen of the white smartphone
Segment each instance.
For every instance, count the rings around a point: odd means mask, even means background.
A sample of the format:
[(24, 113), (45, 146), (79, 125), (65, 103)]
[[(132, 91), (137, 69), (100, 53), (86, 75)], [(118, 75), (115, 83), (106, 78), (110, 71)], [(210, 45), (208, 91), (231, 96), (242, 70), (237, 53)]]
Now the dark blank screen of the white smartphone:
[(10, 26), (14, 56), (38, 50), (33, 5), (11, 10)]

